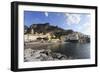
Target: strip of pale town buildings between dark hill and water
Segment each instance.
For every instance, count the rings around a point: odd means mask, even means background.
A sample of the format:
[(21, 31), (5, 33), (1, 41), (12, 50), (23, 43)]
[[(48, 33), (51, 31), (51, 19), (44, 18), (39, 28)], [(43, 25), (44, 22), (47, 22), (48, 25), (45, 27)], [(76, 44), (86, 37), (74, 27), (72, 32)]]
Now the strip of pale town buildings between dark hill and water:
[[(38, 25), (38, 24), (37, 24)], [(43, 24), (45, 25), (45, 24)], [(49, 24), (46, 24), (47, 26), (49, 26)], [(86, 42), (90, 42), (90, 38), (89, 35), (84, 35), (80, 32), (74, 32), (71, 30), (67, 30), (67, 31), (71, 31), (71, 33), (64, 32), (64, 34), (61, 34), (63, 32), (58, 32), (57, 35), (54, 34), (54, 32), (48, 32), (48, 33), (38, 33), (34, 30), (34, 28), (30, 29), (30, 33), (27, 33), (28, 30), (24, 30), (24, 41), (25, 42), (29, 42), (29, 41), (51, 41), (51, 42), (79, 42), (79, 43), (86, 43)], [(58, 38), (59, 36), (59, 38)]]

